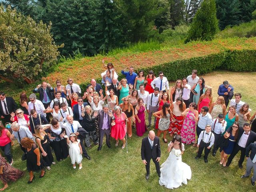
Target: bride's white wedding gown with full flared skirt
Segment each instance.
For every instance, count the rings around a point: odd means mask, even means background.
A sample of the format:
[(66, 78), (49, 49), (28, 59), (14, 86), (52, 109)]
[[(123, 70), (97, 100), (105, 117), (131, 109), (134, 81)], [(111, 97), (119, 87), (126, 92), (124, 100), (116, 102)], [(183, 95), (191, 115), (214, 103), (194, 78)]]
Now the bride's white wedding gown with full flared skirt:
[[(182, 144), (182, 150), (184, 150), (184, 144)], [(182, 162), (181, 155), (175, 156), (176, 151), (180, 150), (172, 148), (168, 158), (160, 168), (159, 184), (168, 189), (178, 188), (182, 186), (182, 183), (187, 184), (187, 179), (191, 179), (190, 166)]]

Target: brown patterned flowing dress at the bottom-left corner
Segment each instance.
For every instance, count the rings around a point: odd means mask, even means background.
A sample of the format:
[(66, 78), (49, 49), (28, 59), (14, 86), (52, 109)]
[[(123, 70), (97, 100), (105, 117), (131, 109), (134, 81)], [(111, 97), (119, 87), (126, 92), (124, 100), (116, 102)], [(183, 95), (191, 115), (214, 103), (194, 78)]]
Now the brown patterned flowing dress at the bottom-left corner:
[(4, 184), (4, 187), (0, 191), (5, 190), (8, 187), (9, 181), (16, 181), (25, 174), (24, 171), (20, 171), (8, 164), (4, 157), (0, 154), (0, 180)]

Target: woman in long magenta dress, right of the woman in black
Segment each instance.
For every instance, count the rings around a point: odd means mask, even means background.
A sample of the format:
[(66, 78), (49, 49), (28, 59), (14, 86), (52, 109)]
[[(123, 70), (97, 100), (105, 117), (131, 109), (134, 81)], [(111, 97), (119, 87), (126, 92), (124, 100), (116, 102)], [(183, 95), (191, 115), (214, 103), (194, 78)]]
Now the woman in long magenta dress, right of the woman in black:
[(143, 134), (146, 132), (146, 114), (145, 114), (145, 104), (143, 102), (142, 98), (138, 99), (138, 105), (135, 108), (135, 116), (136, 116), (136, 133), (139, 137), (143, 136)]

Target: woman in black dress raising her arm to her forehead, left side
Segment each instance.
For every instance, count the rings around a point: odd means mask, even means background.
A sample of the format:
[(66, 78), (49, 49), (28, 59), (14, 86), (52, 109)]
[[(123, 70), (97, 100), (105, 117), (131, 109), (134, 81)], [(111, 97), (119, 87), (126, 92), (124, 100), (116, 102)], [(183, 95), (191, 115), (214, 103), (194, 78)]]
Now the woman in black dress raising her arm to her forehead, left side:
[(38, 143), (40, 152), (43, 156), (43, 160), (46, 162), (46, 168), (48, 170), (51, 169), (51, 164), (55, 165), (55, 162), (53, 161), (52, 150), (50, 148), (50, 143), (48, 140), (48, 135), (44, 131), (50, 126), (50, 124), (35, 126), (36, 142)]

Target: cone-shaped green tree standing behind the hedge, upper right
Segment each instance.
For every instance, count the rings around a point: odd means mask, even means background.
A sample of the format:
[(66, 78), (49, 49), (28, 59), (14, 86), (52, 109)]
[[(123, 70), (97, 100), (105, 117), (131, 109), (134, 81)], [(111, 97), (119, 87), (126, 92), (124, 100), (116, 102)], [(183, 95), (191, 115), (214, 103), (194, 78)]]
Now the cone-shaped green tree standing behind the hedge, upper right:
[(185, 42), (191, 40), (212, 40), (218, 31), (215, 0), (204, 0), (188, 31)]

